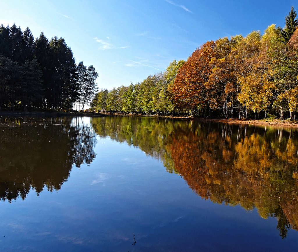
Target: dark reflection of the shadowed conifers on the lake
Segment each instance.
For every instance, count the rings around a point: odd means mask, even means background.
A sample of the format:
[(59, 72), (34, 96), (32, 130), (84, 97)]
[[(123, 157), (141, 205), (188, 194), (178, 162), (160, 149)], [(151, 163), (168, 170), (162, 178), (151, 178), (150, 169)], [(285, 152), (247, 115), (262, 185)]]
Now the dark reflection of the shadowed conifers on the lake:
[(0, 198), (25, 199), (33, 188), (60, 190), (72, 165), (95, 158), (95, 133), (82, 118), (0, 120)]

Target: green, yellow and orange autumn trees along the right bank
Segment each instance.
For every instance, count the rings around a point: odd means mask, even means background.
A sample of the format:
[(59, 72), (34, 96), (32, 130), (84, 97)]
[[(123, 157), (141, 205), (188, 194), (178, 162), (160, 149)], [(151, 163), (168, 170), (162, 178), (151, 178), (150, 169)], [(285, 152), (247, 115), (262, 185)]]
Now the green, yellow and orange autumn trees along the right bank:
[(294, 7), (282, 29), (207, 41), (184, 61), (141, 83), (101, 90), (93, 109), (225, 118), (296, 118), (298, 19)]

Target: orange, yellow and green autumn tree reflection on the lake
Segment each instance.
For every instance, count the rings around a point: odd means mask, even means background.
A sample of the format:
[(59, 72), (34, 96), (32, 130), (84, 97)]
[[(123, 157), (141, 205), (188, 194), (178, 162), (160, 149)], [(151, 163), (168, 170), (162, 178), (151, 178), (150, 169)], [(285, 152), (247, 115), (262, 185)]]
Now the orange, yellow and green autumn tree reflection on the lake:
[(202, 198), (277, 217), (283, 238), (298, 230), (295, 129), (129, 117), (93, 118), (92, 126), (161, 159)]

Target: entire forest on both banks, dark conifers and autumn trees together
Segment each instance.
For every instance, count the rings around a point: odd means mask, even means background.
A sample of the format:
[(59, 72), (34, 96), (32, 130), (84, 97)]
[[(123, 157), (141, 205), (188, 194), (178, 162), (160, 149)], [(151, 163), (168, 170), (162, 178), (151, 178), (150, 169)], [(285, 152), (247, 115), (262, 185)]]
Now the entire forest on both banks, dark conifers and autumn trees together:
[(76, 64), (60, 37), (34, 39), (27, 27), (0, 26), (0, 110), (71, 110), (220, 118), (290, 118), (298, 112), (298, 18), (207, 41), (186, 61), (140, 83), (97, 90), (98, 73)]

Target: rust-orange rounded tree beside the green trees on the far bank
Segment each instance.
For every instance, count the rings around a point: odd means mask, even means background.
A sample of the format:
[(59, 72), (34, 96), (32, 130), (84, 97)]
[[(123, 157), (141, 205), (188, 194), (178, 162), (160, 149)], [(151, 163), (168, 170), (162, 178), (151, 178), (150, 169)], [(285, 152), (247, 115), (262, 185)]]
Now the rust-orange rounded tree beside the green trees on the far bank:
[(208, 41), (197, 48), (179, 69), (170, 92), (178, 107), (194, 111), (206, 108), (207, 90), (204, 83), (212, 72), (210, 60), (215, 57), (215, 43)]

